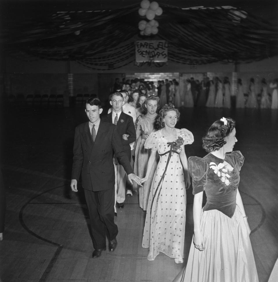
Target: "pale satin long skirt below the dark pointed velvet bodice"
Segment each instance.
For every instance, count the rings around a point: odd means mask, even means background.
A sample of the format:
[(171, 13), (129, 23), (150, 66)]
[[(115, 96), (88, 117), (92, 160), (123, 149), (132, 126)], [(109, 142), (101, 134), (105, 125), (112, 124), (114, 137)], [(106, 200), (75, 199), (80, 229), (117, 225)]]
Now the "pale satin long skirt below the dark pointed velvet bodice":
[(253, 250), (238, 206), (232, 218), (214, 209), (202, 212), (205, 250), (190, 247), (186, 268), (174, 282), (258, 282)]

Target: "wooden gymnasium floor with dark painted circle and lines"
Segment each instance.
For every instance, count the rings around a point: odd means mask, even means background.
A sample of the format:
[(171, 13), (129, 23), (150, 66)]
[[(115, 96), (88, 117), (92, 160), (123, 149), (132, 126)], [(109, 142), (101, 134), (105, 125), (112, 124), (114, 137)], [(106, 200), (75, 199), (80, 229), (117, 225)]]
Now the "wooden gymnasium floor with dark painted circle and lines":
[[(118, 211), (118, 247), (91, 258), (93, 246), (83, 195), (70, 191), (74, 127), (83, 108), (6, 109), (2, 123), (2, 171), (6, 183), (6, 230), (0, 243), (4, 282), (172, 281), (186, 263), (193, 234), (192, 188), (187, 191), (185, 262), (160, 254), (147, 261), (141, 247), (145, 212), (135, 194)], [(278, 257), (277, 110), (182, 109), (177, 127), (192, 131), (187, 156), (204, 156), (201, 138), (222, 116), (237, 121), (235, 150), (245, 156), (239, 189), (260, 282)], [(224, 282), (224, 281), (223, 281)], [(236, 282), (236, 281), (225, 281)]]

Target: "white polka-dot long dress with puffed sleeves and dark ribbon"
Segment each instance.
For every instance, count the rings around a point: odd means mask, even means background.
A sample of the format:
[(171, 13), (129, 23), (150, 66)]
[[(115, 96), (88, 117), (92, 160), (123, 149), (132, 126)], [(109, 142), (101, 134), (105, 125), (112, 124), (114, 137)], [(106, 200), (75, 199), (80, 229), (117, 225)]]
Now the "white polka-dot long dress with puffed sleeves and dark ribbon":
[[(160, 156), (149, 195), (142, 239), (142, 247), (149, 248), (149, 261), (153, 261), (159, 252), (171, 258), (184, 256), (184, 173), (178, 152), (180, 150), (172, 151), (167, 165), (172, 143), (164, 138), (163, 132), (164, 130), (160, 129), (151, 133), (145, 142), (146, 149), (157, 150)], [(191, 144), (194, 140), (192, 133), (187, 129), (175, 129), (175, 132), (177, 138), (183, 134), (182, 145)]]

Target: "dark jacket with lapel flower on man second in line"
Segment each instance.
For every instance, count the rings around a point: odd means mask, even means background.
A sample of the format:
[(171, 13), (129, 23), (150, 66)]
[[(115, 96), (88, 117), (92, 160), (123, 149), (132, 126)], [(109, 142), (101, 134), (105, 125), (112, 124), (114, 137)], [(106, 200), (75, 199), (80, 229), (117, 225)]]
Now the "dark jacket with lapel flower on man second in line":
[[(112, 112), (109, 113), (108, 115), (103, 116), (101, 120), (104, 122), (113, 123)], [(120, 116), (118, 117), (117, 131), (120, 135), (123, 149), (125, 153), (127, 154), (129, 161), (130, 161), (131, 160), (131, 150), (130, 150), (129, 144), (136, 140), (136, 131), (135, 131), (135, 126), (134, 126), (132, 117), (125, 114), (124, 112), (121, 112)], [(123, 134), (129, 135), (129, 137), (127, 138), (128, 140), (122, 139)]]

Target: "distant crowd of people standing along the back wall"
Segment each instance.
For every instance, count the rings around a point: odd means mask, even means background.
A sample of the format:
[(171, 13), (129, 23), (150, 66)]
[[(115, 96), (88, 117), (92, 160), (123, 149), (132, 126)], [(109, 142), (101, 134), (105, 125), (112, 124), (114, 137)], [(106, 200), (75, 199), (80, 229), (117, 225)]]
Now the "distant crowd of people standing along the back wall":
[[(202, 81), (194, 77), (183, 79), (180, 87), (176, 79), (153, 81), (145, 79), (116, 79), (113, 90), (122, 89), (129, 93), (129, 104), (140, 108), (145, 97), (156, 95), (160, 98), (159, 107), (172, 103), (175, 107), (215, 107), (215, 108), (261, 108), (278, 109), (278, 78), (267, 82), (265, 78), (255, 83), (250, 78), (248, 88), (243, 88), (242, 79), (237, 79), (235, 89), (231, 89), (229, 77), (204, 77)], [(257, 89), (257, 91), (256, 91)], [(137, 91), (137, 92), (135, 92)], [(134, 94), (133, 94), (134, 93)], [(139, 99), (140, 97), (140, 99)], [(142, 109), (137, 110), (142, 112)]]

